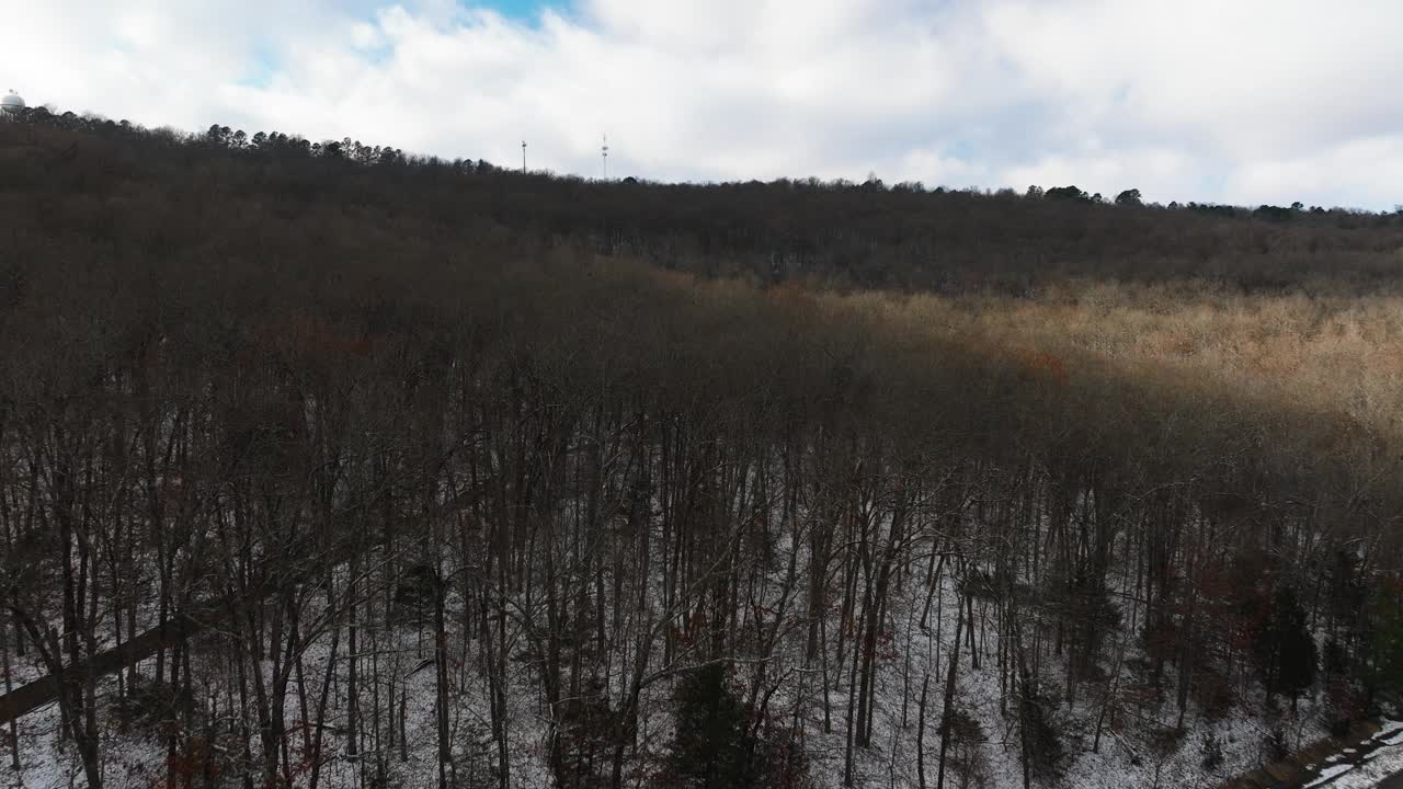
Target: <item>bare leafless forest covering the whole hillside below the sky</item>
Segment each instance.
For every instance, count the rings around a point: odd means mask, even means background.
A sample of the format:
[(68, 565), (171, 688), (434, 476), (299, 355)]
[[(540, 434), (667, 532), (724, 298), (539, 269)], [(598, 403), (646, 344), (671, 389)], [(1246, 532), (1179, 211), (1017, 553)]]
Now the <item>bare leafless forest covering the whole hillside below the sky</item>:
[(1403, 694), (1403, 215), (46, 111), (0, 215), (6, 781), (1218, 786)]

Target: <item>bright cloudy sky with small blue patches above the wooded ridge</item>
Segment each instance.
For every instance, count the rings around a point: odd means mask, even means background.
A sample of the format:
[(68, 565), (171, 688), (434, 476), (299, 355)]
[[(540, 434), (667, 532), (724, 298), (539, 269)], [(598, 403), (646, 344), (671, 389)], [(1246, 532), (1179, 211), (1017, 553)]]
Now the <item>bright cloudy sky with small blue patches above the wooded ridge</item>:
[(150, 126), (610, 175), (1403, 204), (1399, 0), (6, 0), (0, 80)]

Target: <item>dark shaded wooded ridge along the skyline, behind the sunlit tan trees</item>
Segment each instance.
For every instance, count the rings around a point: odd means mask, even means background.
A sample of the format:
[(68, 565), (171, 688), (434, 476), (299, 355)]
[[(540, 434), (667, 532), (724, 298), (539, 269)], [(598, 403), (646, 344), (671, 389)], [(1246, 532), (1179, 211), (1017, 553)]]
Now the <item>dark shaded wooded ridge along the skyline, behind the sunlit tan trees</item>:
[(1138, 190), (1108, 201), (1075, 185), (1034, 185), (1020, 195), (875, 177), (592, 181), (412, 156), (351, 138), (310, 142), (219, 125), (187, 135), (45, 110), (24, 121), (135, 143), (129, 154), (145, 152), (152, 166), (160, 166), (163, 149), (278, 159), (288, 188), (306, 199), (334, 190), (368, 208), (487, 219), (539, 239), (588, 237), (600, 253), (706, 277), (1019, 296), (1066, 278), (1205, 279), (1249, 293), (1312, 295), (1397, 292), (1403, 282), (1403, 212), (1160, 206), (1143, 204)]

